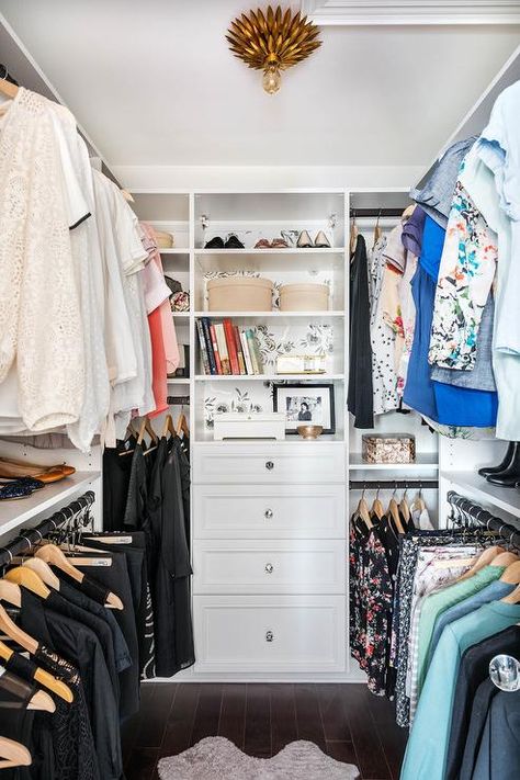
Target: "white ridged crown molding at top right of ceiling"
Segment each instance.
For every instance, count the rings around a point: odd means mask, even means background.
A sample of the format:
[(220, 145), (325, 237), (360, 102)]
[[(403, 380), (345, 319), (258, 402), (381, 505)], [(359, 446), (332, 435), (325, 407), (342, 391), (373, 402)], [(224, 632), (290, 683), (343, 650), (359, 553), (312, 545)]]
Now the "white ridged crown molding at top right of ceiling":
[(520, 24), (519, 0), (301, 0), (319, 26)]

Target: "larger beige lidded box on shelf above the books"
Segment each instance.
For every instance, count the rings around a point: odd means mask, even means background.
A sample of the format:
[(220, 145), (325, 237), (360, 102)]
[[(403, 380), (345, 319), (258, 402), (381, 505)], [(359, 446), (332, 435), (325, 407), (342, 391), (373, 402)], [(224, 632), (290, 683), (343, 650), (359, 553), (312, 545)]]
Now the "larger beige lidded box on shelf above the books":
[(262, 276), (227, 276), (207, 282), (210, 312), (271, 312), (273, 283)]

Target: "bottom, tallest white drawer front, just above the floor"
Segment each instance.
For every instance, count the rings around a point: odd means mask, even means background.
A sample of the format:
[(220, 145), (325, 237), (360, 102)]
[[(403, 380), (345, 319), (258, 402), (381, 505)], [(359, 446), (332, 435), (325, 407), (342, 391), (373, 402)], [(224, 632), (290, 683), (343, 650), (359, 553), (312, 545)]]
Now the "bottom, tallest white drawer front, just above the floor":
[(195, 671), (343, 671), (341, 596), (195, 596)]

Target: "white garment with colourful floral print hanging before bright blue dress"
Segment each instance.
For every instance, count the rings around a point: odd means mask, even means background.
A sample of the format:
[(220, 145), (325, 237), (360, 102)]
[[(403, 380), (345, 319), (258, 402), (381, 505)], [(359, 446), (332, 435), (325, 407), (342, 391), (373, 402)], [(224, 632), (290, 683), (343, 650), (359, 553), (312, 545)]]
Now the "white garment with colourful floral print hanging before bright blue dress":
[(437, 283), (430, 364), (465, 371), (474, 368), (497, 253), (496, 234), (457, 181)]

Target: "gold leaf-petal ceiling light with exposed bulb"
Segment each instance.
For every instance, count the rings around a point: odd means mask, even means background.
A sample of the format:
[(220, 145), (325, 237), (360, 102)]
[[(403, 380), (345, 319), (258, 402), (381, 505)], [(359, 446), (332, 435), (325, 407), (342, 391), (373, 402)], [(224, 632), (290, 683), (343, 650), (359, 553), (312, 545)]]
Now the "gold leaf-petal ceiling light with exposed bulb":
[(231, 22), (226, 39), (235, 57), (249, 68), (263, 70), (263, 89), (269, 94), (278, 92), (281, 70), (291, 68), (321, 46), (318, 27), (307, 16), (285, 12), (279, 5), (267, 11), (258, 9), (242, 13)]

